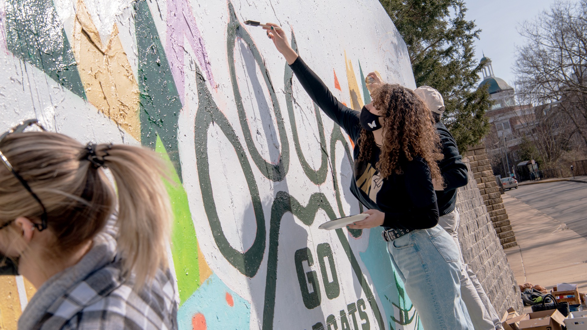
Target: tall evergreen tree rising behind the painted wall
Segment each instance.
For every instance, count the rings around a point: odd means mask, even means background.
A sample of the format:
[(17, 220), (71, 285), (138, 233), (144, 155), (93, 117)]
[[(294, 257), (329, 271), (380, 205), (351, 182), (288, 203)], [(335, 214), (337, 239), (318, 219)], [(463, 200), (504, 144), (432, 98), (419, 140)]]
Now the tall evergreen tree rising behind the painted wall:
[(403, 36), (417, 86), (427, 85), (444, 98), (444, 123), (461, 153), (489, 132), (485, 111), (492, 101), (477, 89), (478, 63), (473, 41), (481, 30), (465, 19), (463, 0), (380, 0)]

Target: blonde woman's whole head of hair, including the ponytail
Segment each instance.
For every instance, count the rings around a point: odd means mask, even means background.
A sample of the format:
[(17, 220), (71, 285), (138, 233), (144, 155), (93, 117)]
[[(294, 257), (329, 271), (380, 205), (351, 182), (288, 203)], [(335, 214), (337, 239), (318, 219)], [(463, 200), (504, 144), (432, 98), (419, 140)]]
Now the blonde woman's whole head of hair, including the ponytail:
[[(42, 200), (55, 242), (48, 257), (59, 256), (103, 230), (118, 208), (118, 255), (123, 271), (134, 274), (136, 287), (167, 267), (172, 221), (163, 182), (167, 167), (149, 149), (124, 144), (97, 144), (88, 149), (59, 133), (9, 134), (2, 153)], [(116, 192), (105, 171), (114, 177)], [(116, 200), (118, 203), (116, 203)], [(38, 221), (42, 208), (4, 166), (0, 167), (0, 219)]]

